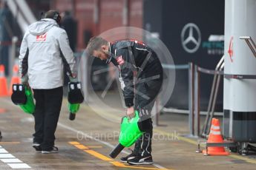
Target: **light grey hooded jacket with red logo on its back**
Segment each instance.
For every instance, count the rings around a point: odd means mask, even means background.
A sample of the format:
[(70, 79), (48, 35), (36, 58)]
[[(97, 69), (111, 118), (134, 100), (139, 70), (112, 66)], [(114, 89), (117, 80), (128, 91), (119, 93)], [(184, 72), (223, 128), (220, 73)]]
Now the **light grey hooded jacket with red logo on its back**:
[(63, 67), (75, 75), (75, 58), (68, 35), (55, 20), (45, 18), (28, 27), (19, 55), (19, 73), (28, 75), (33, 89), (63, 86)]

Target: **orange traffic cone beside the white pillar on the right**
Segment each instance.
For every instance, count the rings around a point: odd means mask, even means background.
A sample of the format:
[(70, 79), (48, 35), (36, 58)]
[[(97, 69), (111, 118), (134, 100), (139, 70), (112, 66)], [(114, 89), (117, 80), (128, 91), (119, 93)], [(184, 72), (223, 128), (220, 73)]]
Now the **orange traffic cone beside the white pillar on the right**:
[[(211, 131), (207, 140), (207, 143), (223, 143), (223, 137), (220, 133), (220, 122), (218, 119), (213, 118), (211, 120)], [(203, 150), (203, 154), (206, 154), (206, 150)], [(228, 155), (229, 152), (225, 152), (223, 146), (208, 147), (209, 155)]]

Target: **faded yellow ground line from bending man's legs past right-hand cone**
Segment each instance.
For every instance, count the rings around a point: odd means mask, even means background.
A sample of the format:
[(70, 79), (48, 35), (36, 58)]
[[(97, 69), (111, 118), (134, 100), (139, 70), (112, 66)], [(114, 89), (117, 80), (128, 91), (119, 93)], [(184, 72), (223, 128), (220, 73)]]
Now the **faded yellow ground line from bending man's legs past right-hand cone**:
[[(170, 133), (164, 132), (164, 131), (162, 131), (160, 129), (154, 129), (154, 132), (159, 132), (159, 133), (161, 133), (163, 135), (171, 135)], [(191, 143), (191, 144), (194, 144), (194, 145), (198, 144), (197, 141), (188, 139), (186, 137), (180, 137), (179, 136), (178, 138), (179, 138), (179, 140), (183, 140), (184, 142), (187, 142), (187, 143)], [(256, 160), (252, 160), (252, 159), (250, 159), (248, 157), (240, 156), (240, 155), (237, 155), (237, 154), (229, 154), (228, 157), (233, 157), (233, 158), (235, 158), (237, 160), (245, 160), (247, 163), (254, 163), (254, 164), (256, 164)]]

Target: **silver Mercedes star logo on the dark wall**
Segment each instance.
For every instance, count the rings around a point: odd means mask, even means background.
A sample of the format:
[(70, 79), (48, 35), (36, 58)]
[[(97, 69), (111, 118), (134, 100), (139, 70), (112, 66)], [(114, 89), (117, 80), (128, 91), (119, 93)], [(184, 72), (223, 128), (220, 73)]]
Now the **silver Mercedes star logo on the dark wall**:
[(183, 27), (181, 43), (183, 44), (184, 50), (188, 53), (193, 53), (198, 50), (201, 43), (201, 33), (196, 24), (188, 23)]

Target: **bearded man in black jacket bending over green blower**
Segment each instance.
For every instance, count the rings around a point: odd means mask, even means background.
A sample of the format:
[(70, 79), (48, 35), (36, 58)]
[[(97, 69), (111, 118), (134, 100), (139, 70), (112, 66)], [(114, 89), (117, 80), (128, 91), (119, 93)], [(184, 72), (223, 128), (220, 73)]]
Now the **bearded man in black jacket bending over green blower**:
[(153, 163), (151, 110), (163, 84), (163, 68), (157, 54), (140, 41), (111, 44), (101, 37), (91, 38), (86, 51), (88, 55), (106, 60), (107, 64), (112, 62), (119, 68), (126, 114), (133, 118), (134, 109), (137, 109), (140, 115), (139, 126), (144, 133), (135, 143), (134, 151), (121, 160), (130, 164)]

